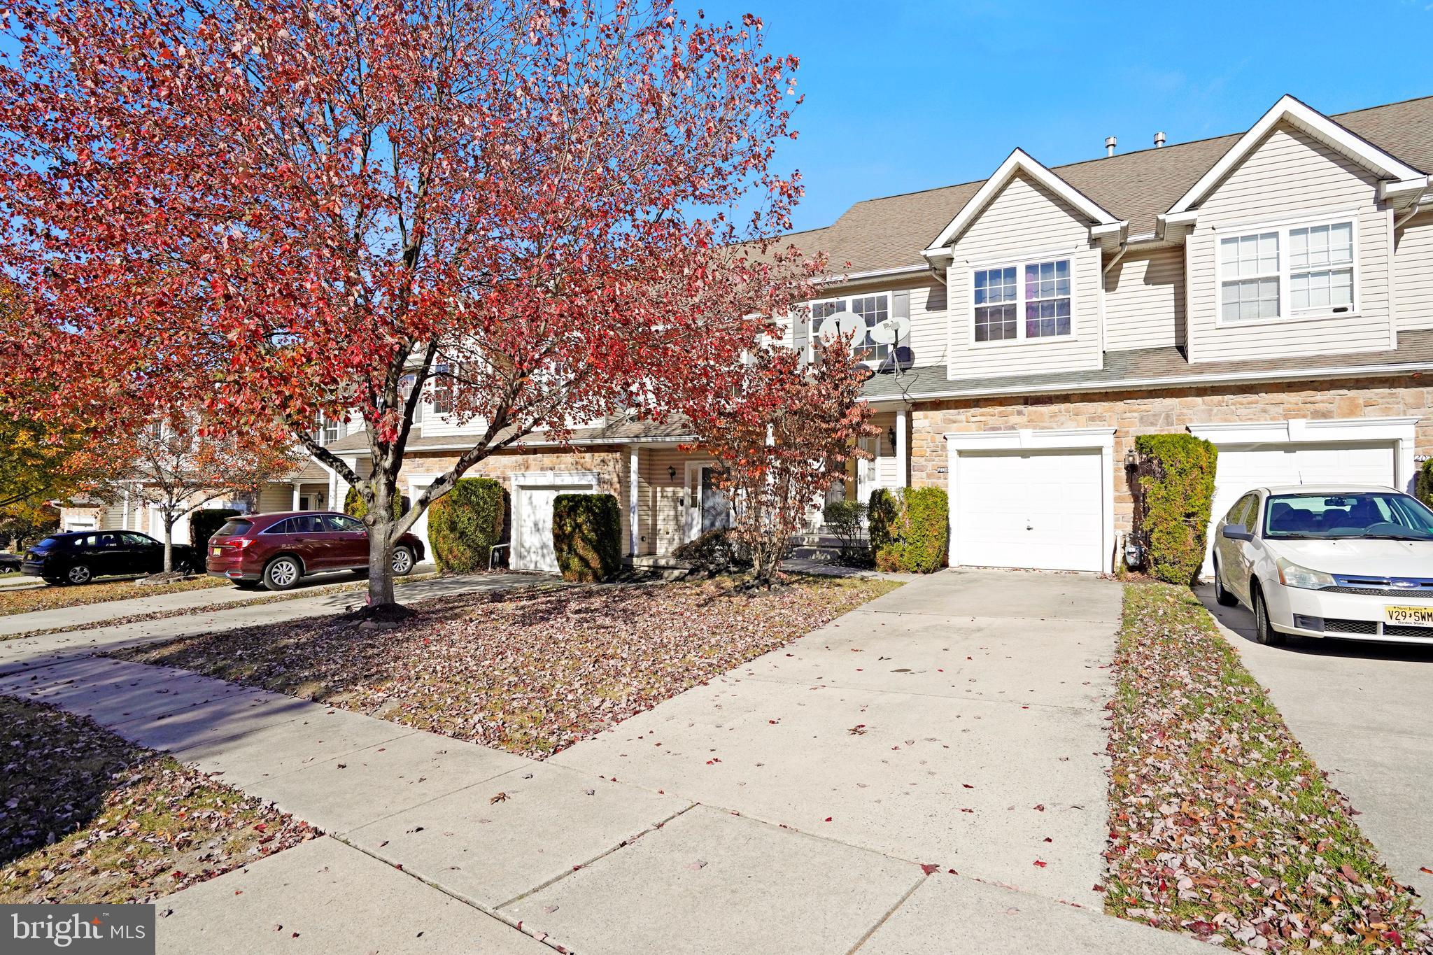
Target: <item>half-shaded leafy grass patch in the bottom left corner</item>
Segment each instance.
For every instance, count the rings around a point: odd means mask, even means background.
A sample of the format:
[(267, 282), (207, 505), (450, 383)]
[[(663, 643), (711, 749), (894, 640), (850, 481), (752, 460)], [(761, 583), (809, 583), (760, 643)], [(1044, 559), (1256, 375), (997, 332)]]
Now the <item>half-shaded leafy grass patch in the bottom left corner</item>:
[(148, 902), (318, 835), (83, 716), (0, 696), (0, 903)]

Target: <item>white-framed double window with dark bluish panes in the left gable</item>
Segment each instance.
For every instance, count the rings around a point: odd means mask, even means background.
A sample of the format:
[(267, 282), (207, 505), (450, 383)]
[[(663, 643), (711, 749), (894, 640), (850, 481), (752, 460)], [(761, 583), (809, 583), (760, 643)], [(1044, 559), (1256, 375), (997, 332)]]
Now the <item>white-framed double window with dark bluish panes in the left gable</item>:
[(979, 269), (973, 276), (973, 292), (977, 342), (1070, 334), (1069, 259)]

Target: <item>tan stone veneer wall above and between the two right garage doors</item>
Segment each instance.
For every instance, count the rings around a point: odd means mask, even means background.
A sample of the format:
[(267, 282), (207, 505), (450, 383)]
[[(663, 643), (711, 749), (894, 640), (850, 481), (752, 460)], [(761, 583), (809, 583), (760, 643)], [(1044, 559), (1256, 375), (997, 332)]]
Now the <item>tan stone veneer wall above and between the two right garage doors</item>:
[(947, 432), (1115, 428), (1115, 528), (1128, 531), (1134, 498), (1125, 481), (1125, 454), (1136, 435), (1212, 422), (1422, 417), (1416, 441), (1422, 454), (1433, 447), (1433, 417), (1426, 417), (1430, 407), (1433, 385), (1422, 384), (1417, 375), (924, 402), (911, 408), (910, 483), (946, 485)]

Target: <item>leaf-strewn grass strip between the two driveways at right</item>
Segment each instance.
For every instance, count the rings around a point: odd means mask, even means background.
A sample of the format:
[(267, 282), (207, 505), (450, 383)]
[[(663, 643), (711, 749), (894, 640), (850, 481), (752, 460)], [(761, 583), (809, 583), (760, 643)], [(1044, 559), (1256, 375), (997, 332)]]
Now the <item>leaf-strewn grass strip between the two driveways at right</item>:
[(1416, 893), (1188, 588), (1125, 588), (1115, 669), (1108, 912), (1247, 952), (1433, 951)]

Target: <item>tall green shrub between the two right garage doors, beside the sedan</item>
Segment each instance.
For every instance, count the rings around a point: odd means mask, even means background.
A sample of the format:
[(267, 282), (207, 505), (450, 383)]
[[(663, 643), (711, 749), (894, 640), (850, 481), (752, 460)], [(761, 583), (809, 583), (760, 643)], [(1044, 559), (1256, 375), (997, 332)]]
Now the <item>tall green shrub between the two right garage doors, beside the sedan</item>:
[(1218, 450), (1192, 434), (1135, 438), (1135, 527), (1145, 566), (1171, 584), (1191, 584), (1204, 566)]

